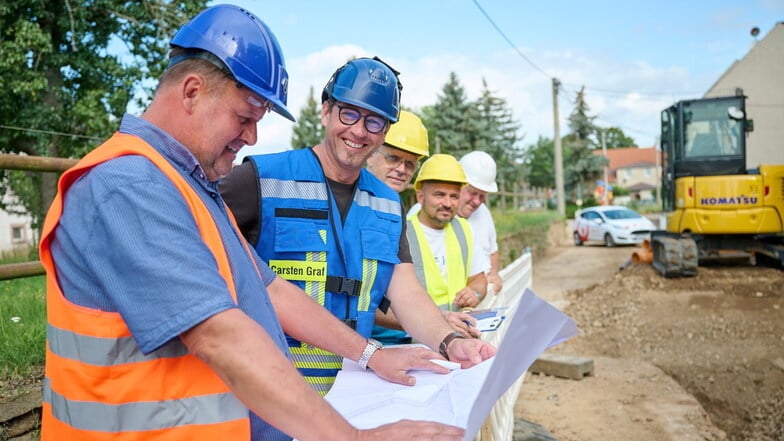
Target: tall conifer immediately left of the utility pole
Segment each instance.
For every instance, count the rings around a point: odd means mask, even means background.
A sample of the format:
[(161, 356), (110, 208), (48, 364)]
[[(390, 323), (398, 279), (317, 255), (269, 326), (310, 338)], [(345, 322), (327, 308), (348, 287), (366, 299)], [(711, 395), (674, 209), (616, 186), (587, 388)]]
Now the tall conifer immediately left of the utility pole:
[(495, 159), (496, 180), (511, 191), (523, 177), (520, 123), (515, 121), (506, 100), (494, 95), (485, 79), (482, 79), (482, 92), (474, 107), (476, 131), (469, 134), (470, 147), (487, 152)]

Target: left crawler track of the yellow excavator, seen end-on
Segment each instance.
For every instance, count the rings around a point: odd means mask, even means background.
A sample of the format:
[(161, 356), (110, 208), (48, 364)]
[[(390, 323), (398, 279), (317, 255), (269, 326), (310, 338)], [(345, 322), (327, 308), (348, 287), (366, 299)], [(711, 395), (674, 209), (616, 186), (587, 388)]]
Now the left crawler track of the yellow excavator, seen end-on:
[(691, 236), (654, 235), (651, 237), (653, 268), (664, 277), (697, 275), (699, 252)]

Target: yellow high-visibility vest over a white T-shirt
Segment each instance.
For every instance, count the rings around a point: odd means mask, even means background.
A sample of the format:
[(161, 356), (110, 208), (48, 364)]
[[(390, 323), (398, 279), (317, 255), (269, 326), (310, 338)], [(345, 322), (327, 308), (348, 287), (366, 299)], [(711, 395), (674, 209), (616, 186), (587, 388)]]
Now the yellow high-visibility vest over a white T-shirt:
[(473, 246), (473, 237), (468, 228), (468, 222), (458, 216), (444, 227), (447, 255), (447, 280), (444, 280), (417, 215), (412, 214), (407, 221), (406, 237), (417, 279), (436, 305), (443, 310), (454, 309), (455, 294), (468, 282)]

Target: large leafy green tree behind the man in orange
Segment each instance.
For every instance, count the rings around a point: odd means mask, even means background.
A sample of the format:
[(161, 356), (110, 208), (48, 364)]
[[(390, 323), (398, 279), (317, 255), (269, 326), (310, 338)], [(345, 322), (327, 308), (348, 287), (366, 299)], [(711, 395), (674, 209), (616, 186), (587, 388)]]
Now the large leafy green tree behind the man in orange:
[[(206, 1), (33, 0), (0, 3), (0, 149), (78, 158), (143, 107), (166, 66), (168, 41)], [(3, 172), (38, 227), (54, 173)], [(13, 207), (9, 207), (11, 211)]]

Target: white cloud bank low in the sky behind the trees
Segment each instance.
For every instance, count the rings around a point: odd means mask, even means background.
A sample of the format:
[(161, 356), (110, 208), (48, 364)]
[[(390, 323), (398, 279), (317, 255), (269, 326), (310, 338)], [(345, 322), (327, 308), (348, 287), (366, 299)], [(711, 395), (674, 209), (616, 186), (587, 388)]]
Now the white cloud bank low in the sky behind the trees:
[[(685, 97), (661, 95), (660, 91), (704, 91), (711, 80), (695, 79), (678, 66), (653, 66), (645, 61), (620, 62), (589, 57), (568, 49), (535, 52), (523, 50), (537, 66), (556, 76), (563, 84), (560, 91), (560, 133), (568, 133), (566, 118), (574, 106), (575, 92), (587, 86), (586, 99), (597, 123), (618, 126), (641, 146), (655, 143), (661, 110)], [(330, 46), (304, 57), (287, 60), (290, 75), (288, 107), (297, 116), (312, 86), (317, 100), (321, 89), (335, 69), (351, 57), (372, 56), (357, 45)], [(514, 50), (487, 53), (469, 58), (459, 53), (422, 58), (385, 59), (401, 72), (402, 104), (422, 108), (434, 104), (441, 89), (455, 72), (468, 99), (476, 99), (484, 78), (488, 87), (504, 98), (525, 134), (523, 144), (536, 142), (541, 135), (553, 137), (551, 79), (531, 67)], [(689, 97), (695, 97), (689, 96)], [(259, 142), (246, 147), (242, 155), (269, 153), (289, 148), (292, 123), (273, 115), (259, 127)]]

